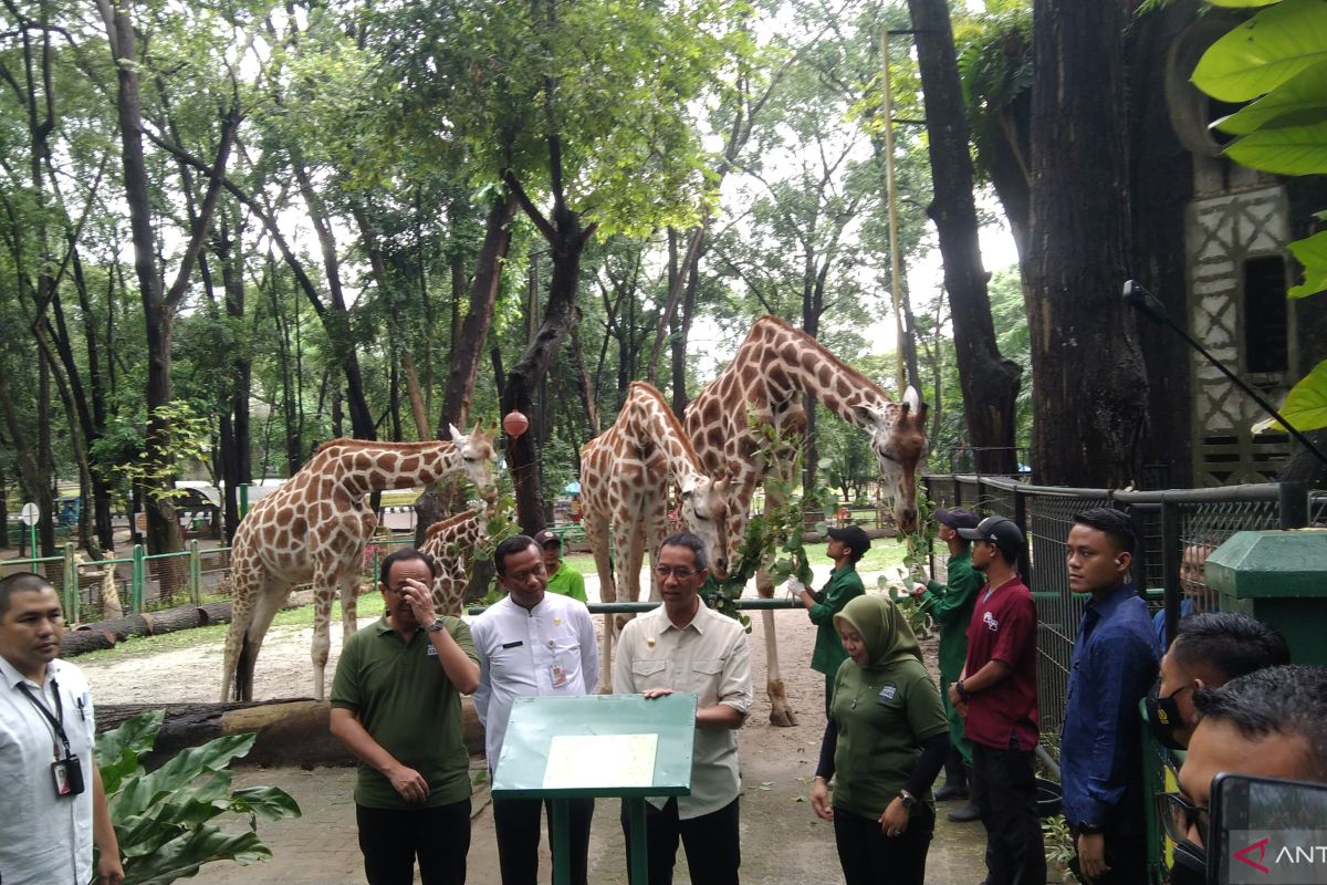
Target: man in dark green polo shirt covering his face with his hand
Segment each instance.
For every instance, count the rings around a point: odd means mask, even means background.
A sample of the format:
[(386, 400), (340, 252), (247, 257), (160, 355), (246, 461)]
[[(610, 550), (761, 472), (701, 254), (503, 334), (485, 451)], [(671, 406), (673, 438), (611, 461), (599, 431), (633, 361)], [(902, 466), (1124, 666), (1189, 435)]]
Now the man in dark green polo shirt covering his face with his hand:
[(434, 563), (415, 549), (382, 560), (384, 616), (341, 647), (332, 734), (360, 759), (354, 787), (369, 885), (463, 885), (470, 758), (460, 695), (479, 686), (470, 628), (438, 617)]

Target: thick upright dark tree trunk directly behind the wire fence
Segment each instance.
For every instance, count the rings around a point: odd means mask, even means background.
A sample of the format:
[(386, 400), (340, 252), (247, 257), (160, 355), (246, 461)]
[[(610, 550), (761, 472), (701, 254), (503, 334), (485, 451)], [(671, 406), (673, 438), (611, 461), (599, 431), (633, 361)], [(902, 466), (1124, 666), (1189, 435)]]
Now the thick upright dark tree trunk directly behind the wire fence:
[(1032, 214), (1024, 280), (1036, 378), (1032, 470), (1046, 486), (1137, 475), (1148, 381), (1129, 276), (1124, 29), (1131, 3), (1036, 0)]

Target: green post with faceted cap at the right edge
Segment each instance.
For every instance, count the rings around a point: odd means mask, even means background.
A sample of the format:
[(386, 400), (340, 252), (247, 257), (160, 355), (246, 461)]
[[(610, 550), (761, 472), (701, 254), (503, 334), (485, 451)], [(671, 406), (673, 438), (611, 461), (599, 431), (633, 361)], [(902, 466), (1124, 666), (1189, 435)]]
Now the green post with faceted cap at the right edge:
[(1281, 632), (1295, 663), (1327, 665), (1327, 529), (1237, 532), (1204, 567), (1222, 612)]

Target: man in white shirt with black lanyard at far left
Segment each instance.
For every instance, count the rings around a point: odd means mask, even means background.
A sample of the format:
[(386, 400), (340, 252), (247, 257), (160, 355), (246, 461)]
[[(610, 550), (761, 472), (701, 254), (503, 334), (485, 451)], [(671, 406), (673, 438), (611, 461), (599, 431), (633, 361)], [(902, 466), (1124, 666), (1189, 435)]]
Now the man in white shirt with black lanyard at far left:
[[(0, 882), (119, 885), (125, 872), (93, 759), (92, 691), (57, 661), (60, 596), (40, 575), (0, 580)], [(93, 870), (92, 848), (101, 854)]]

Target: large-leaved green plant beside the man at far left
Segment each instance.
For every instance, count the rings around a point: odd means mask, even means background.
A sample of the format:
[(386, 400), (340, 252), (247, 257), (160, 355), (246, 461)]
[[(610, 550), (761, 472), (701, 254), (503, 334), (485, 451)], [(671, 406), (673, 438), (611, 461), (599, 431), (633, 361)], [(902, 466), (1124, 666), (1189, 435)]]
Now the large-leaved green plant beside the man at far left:
[[(272, 852), (257, 837), (257, 819), (299, 817), (283, 789), (232, 789), (231, 762), (248, 754), (256, 735), (228, 735), (190, 747), (147, 772), (165, 713), (149, 711), (97, 738), (97, 764), (125, 866), (126, 885), (166, 885), (218, 860), (251, 864)], [(249, 829), (228, 833), (210, 823), (223, 813), (247, 815)]]

